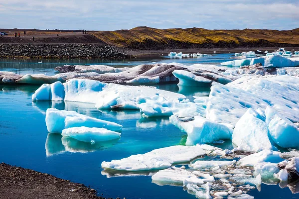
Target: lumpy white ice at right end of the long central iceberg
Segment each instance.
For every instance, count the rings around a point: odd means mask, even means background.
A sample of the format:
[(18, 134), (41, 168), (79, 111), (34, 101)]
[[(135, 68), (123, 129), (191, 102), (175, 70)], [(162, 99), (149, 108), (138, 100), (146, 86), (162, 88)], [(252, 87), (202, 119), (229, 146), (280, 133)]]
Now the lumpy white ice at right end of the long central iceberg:
[(205, 116), (205, 107), (189, 100), (179, 102), (178, 100), (173, 101), (160, 96), (154, 96), (151, 98), (139, 98), (138, 103), (140, 111), (147, 117), (170, 115), (178, 117)]

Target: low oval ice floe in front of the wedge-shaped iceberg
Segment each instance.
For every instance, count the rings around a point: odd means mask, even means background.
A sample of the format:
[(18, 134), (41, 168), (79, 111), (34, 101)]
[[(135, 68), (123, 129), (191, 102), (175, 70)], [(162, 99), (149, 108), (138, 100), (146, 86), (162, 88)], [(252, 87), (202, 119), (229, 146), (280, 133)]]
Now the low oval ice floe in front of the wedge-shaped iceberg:
[(121, 137), (121, 133), (106, 128), (88, 128), (85, 126), (63, 129), (61, 135), (72, 137), (82, 142), (102, 142)]

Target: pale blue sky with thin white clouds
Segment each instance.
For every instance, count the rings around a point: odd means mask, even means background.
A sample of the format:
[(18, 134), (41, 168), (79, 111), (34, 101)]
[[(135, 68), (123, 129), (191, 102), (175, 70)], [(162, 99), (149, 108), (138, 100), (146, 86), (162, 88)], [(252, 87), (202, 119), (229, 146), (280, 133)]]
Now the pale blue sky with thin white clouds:
[(0, 0), (0, 28), (299, 28), (299, 0)]

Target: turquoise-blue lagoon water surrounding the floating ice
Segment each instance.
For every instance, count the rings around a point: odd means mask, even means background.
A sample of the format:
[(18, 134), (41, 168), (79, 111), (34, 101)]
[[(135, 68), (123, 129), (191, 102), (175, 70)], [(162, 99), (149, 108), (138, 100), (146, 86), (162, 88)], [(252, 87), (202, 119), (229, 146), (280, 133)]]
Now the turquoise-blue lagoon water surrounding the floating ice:
[[(215, 55), (202, 59), (203, 63), (227, 60), (231, 54)], [(0, 70), (25, 73), (54, 74), (53, 68), (68, 63), (135, 66), (142, 63), (183, 62), (186, 65), (199, 63), (198, 59), (170, 60), (165, 57), (151, 60), (99, 62), (98, 60), (51, 60), (42, 64), (30, 60), (1, 60)], [(19, 63), (20, 62), (20, 63)], [(60, 62), (60, 63), (59, 63)], [(129, 63), (130, 62), (130, 63)], [(219, 63), (218, 62), (218, 63)], [(104, 197), (126, 199), (194, 199), (181, 187), (158, 186), (149, 176), (118, 177), (105, 174), (101, 163), (121, 159), (133, 154), (146, 153), (153, 149), (184, 144), (186, 134), (165, 118), (142, 118), (139, 111), (99, 111), (93, 104), (49, 101), (31, 101), (38, 86), (0, 85), (0, 162), (49, 173), (56, 177), (83, 183), (97, 189)], [(161, 85), (158, 88), (188, 96), (206, 96), (208, 88), (194, 89), (177, 85)], [(124, 126), (121, 139), (91, 145), (74, 139), (62, 139), (61, 135), (47, 132), (45, 111), (49, 107), (74, 110), (95, 118), (117, 122)], [(231, 148), (227, 141), (225, 148)], [(146, 174), (144, 174), (146, 175)], [(108, 178), (109, 177), (109, 178)], [(249, 193), (257, 199), (299, 198), (279, 186), (262, 185), (262, 192)]]

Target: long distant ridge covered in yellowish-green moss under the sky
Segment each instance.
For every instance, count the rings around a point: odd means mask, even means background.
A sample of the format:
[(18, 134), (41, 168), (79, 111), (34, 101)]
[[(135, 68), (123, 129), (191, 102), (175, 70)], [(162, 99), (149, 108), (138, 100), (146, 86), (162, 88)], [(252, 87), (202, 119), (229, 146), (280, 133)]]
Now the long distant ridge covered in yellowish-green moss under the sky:
[(136, 50), (299, 46), (299, 28), (280, 31), (208, 30), (196, 27), (156, 29), (141, 26), (130, 30), (98, 31), (92, 34), (109, 45)]

